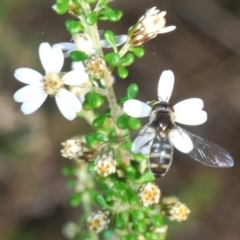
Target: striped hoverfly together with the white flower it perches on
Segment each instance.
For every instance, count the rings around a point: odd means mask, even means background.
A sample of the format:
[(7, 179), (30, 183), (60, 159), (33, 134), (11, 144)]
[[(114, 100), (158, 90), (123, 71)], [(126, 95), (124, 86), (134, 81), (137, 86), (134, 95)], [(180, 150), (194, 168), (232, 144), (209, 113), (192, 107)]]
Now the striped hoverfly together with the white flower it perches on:
[(168, 171), (173, 156), (173, 146), (194, 160), (210, 167), (232, 167), (231, 155), (220, 146), (204, 140), (177, 126), (175, 122), (199, 125), (207, 120), (202, 110), (203, 101), (191, 98), (172, 106), (168, 103), (174, 85), (172, 71), (164, 71), (159, 79), (158, 99), (152, 107), (131, 99), (123, 110), (131, 117), (147, 117), (150, 122), (143, 127), (132, 145), (133, 153), (150, 154), (150, 169), (155, 177)]

